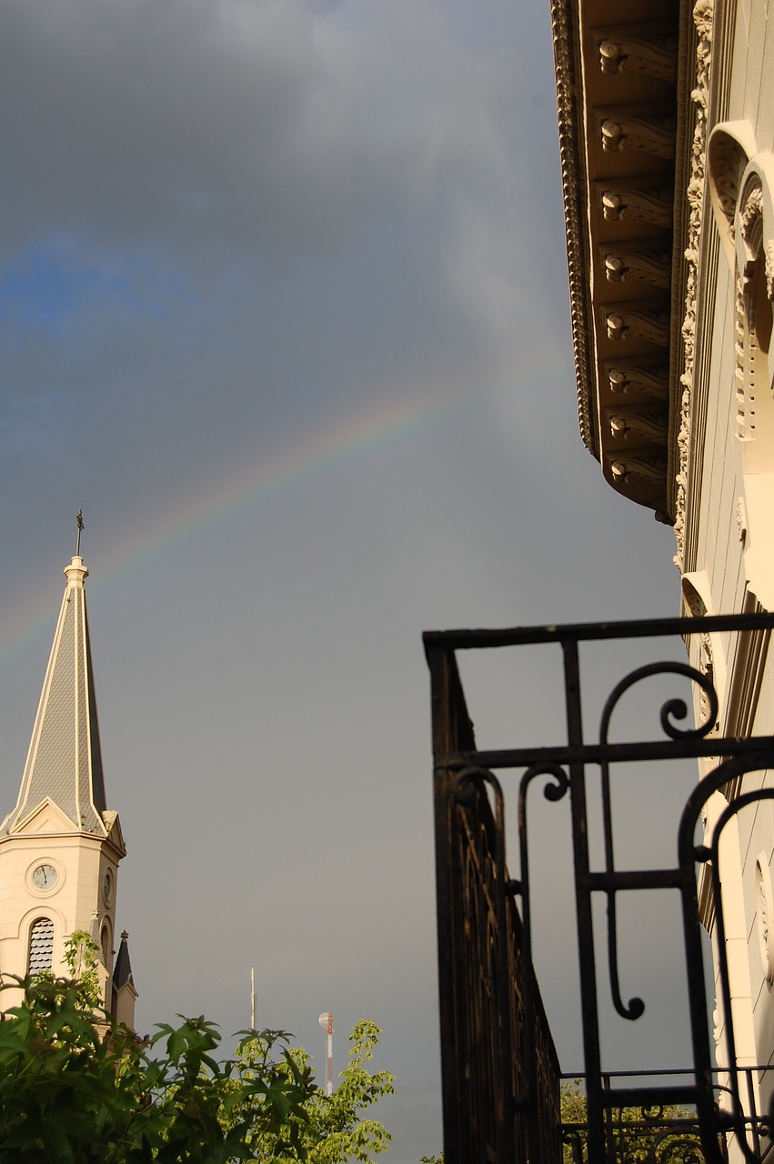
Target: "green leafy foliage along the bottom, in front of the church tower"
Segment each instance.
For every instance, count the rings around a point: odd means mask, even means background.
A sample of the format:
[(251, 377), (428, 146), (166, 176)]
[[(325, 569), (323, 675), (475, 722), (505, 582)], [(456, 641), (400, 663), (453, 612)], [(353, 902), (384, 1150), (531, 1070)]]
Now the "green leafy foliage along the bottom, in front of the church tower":
[(340, 1086), (327, 1099), (308, 1057), (282, 1031), (249, 1031), (216, 1058), (204, 1017), (161, 1024), (148, 1039), (112, 1030), (81, 982), (20, 984), (0, 1021), (0, 1164), (338, 1164), (371, 1159), (390, 1136), (362, 1113), (392, 1091), (367, 1064), (378, 1038), (358, 1023)]

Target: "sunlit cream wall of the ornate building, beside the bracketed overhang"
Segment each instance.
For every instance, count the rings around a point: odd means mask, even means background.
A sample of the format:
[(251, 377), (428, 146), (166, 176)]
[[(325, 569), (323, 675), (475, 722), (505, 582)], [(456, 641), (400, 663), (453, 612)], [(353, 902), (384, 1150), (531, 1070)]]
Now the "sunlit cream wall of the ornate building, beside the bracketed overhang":
[[(760, 0), (740, 0), (736, 12), (733, 5), (729, 5), (726, 12), (732, 21), (732, 35), (726, 43), (730, 47), (731, 64), (729, 66), (723, 59), (715, 57), (712, 64), (716, 107), (724, 121), (750, 122), (753, 149), (761, 156), (764, 169), (774, 165), (774, 27), (769, 27), (767, 8), (768, 5)], [(715, 38), (713, 30), (716, 51), (720, 44), (719, 28)], [(719, 97), (718, 85), (724, 90)], [(710, 235), (722, 230), (722, 225), (718, 227), (709, 211), (709, 198), (705, 207), (708, 221), (704, 251), (709, 255)], [(767, 220), (765, 211), (764, 247), (769, 240), (774, 240), (774, 220), (771, 215)], [(705, 360), (709, 355), (709, 362), (703, 363), (708, 381), (706, 395), (702, 397), (705, 399), (705, 416), (693, 419), (695, 447), (691, 450), (691, 474), (695, 480), (701, 477), (701, 484), (698, 491), (694, 492), (697, 504), (687, 512), (687, 524), (693, 525), (693, 539), (687, 538), (687, 541), (696, 551), (695, 558), (686, 565), (688, 570), (695, 570), (706, 580), (708, 613), (751, 609), (755, 598), (766, 609), (774, 610), (774, 430), (764, 432), (759, 424), (754, 438), (766, 442), (759, 446), (759, 452), (771, 441), (766, 468), (772, 476), (767, 480), (769, 474), (759, 471), (760, 459), (755, 461), (750, 455), (751, 446), (745, 445), (739, 436), (734, 349), (734, 343), (739, 341), (739, 333), (734, 335), (736, 281), (741, 253), (739, 229), (732, 242), (730, 256), (726, 251), (724, 257), (724, 249), (719, 248), (717, 277), (708, 282), (703, 301), (700, 301), (700, 311), (711, 313), (711, 326), (700, 329), (710, 350), (704, 353)], [(729, 264), (729, 257), (732, 262), (736, 260), (736, 267)], [(766, 255), (765, 260), (771, 264), (774, 251)], [(772, 361), (774, 343), (769, 364)], [(771, 370), (774, 371), (774, 368)], [(771, 393), (771, 377), (767, 390)], [(760, 416), (766, 424), (765, 411), (769, 407), (771, 397), (762, 404), (765, 407), (760, 410)], [(697, 424), (698, 419), (703, 423)], [(751, 467), (755, 468), (754, 474), (750, 471)], [(747, 730), (752, 729), (755, 733), (774, 732), (774, 647), (762, 677), (759, 676), (758, 688), (755, 683), (751, 686), (750, 663), (741, 656), (734, 636), (724, 636), (723, 641), (715, 647), (716, 654), (718, 651), (724, 658), (723, 667), (717, 669), (726, 676), (718, 691), (720, 733), (736, 733), (745, 721)], [(695, 650), (694, 656), (696, 654)], [(743, 676), (747, 682), (745, 698), (751, 704), (747, 709), (734, 705), (732, 701), (734, 687), (740, 689)], [(760, 787), (762, 783), (774, 785), (773, 774), (751, 774), (745, 779), (745, 789)], [(761, 960), (755, 861), (762, 853), (774, 879), (772, 803), (761, 801), (755, 807), (743, 810), (733, 833), (725, 845), (726, 871), (724, 873), (722, 868), (722, 876), (724, 896), (727, 887), (727, 956), (733, 978), (737, 1053), (741, 1064), (769, 1063), (774, 1062), (774, 986), (767, 981)], [(772, 906), (774, 909), (774, 903)], [(774, 930), (774, 924), (772, 928)], [(723, 1028), (724, 1017), (720, 1014), (718, 1034), (722, 1034)], [(768, 1102), (771, 1090), (771, 1084), (764, 1078), (764, 1103)]]

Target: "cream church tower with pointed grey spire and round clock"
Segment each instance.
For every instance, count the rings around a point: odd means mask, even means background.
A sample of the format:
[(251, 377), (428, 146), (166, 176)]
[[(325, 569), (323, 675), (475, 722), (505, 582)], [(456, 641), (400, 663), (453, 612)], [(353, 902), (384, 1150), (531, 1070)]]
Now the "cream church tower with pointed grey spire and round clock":
[[(80, 549), (80, 545), (78, 546)], [(100, 950), (104, 1005), (133, 1025), (136, 991), (126, 934), (115, 953), (115, 897), (126, 856), (107, 808), (86, 591), (78, 553), (68, 580), (19, 799), (0, 824), (0, 974), (68, 975), (65, 942), (85, 930)], [(0, 994), (0, 1009), (17, 1000)]]

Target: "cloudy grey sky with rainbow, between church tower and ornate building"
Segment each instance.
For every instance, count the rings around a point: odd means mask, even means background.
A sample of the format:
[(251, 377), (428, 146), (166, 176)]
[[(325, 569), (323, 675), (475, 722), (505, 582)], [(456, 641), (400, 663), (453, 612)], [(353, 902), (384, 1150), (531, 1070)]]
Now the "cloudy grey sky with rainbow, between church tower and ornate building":
[[(372, 1018), (416, 1164), (441, 1147), (421, 632), (677, 612), (672, 531), (577, 432), (548, 2), (0, 0), (0, 77), (2, 811), (83, 508), (139, 1028), (246, 1027), (251, 966), (258, 1024), (321, 1070), (320, 1012), (335, 1071)], [(531, 659), (466, 668), (480, 739), (552, 730)]]

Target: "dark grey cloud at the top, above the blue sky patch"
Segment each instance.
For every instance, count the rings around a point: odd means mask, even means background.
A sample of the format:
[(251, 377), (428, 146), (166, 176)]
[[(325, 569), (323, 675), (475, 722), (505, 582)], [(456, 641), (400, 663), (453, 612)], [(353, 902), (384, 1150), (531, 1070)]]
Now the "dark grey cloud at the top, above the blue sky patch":
[(184, 264), (298, 253), (389, 190), (427, 198), (504, 156), (504, 62), (456, 49), (433, 5), (378, 23), (367, 38), (293, 0), (10, 0), (6, 256), (57, 232)]

